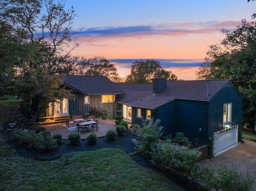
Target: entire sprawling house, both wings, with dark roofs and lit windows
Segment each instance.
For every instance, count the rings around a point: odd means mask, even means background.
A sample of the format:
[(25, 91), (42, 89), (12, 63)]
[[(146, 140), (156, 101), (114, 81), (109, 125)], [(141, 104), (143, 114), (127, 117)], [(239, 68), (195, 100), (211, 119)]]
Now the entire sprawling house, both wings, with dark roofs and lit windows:
[(108, 109), (114, 119), (123, 110), (124, 120), (140, 124), (141, 118), (160, 119), (164, 132), (183, 132), (204, 144), (214, 137), (214, 154), (238, 143), (242, 126), (242, 95), (229, 80), (112, 83), (103, 76), (65, 76), (76, 100), (63, 100), (49, 108), (44, 117), (85, 114)]

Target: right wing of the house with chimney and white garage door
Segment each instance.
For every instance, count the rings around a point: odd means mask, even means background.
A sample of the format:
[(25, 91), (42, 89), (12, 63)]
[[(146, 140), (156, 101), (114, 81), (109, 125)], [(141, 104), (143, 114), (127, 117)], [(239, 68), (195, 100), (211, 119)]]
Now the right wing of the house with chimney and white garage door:
[(160, 119), (164, 132), (183, 132), (190, 140), (209, 144), (214, 155), (238, 143), (242, 126), (242, 95), (229, 80), (166, 81), (153, 84), (119, 84), (125, 95), (116, 99), (124, 119), (140, 124)]

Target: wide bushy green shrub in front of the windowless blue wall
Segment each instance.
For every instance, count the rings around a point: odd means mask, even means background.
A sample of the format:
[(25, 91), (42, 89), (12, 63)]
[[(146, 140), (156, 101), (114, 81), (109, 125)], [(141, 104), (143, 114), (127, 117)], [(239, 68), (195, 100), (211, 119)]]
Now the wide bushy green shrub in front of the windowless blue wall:
[(151, 162), (166, 169), (188, 176), (194, 169), (201, 153), (172, 143), (152, 144)]

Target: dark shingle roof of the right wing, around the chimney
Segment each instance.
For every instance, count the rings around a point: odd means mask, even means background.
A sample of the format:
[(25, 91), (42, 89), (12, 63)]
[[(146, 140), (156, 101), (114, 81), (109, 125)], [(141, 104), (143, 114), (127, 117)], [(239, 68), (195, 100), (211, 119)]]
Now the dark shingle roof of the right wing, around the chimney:
[[(139, 91), (124, 90), (126, 96), (118, 100), (118, 102), (127, 103), (128, 106), (156, 109), (175, 99), (210, 101), (228, 82), (229, 80), (208, 80), (207, 91), (206, 80), (168, 81), (166, 89), (155, 96), (152, 95), (152, 84), (151, 87), (148, 86), (147, 88), (143, 86), (140, 88), (140, 85), (137, 84), (136, 89)], [(125, 89), (125, 87), (124, 85), (122, 87), (122, 84), (120, 84), (120, 88)], [(129, 89), (132, 88), (129, 87)]]

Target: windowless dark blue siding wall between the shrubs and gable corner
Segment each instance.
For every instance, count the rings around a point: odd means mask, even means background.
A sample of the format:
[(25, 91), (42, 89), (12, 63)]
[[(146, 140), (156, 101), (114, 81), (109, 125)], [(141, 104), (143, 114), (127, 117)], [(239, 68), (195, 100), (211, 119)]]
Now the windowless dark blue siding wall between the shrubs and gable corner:
[(207, 102), (176, 100), (176, 132), (183, 132), (190, 140), (207, 142)]

